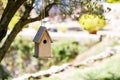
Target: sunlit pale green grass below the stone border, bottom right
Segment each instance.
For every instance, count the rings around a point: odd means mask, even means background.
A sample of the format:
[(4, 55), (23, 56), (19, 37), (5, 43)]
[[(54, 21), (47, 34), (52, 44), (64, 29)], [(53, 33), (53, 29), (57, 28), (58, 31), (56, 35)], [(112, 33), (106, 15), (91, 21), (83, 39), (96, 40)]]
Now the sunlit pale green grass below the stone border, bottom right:
[[(91, 66), (87, 68), (79, 68), (71, 71), (64, 76), (65, 80), (119, 80), (120, 79), (120, 54), (100, 61), (99, 63), (90, 64)], [(57, 78), (59, 80), (61, 77), (52, 76), (50, 78), (45, 78), (45, 80), (52, 80)], [(57, 80), (55, 79), (55, 80)]]

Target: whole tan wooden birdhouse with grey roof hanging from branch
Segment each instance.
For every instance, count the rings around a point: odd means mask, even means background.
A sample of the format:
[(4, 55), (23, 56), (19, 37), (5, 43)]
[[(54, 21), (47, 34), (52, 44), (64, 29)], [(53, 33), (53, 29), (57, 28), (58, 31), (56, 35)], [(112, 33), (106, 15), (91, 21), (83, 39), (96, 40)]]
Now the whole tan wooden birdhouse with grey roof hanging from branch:
[(35, 57), (39, 58), (49, 58), (52, 57), (51, 53), (51, 43), (52, 39), (46, 29), (46, 27), (41, 26), (35, 35), (33, 41), (35, 42)]

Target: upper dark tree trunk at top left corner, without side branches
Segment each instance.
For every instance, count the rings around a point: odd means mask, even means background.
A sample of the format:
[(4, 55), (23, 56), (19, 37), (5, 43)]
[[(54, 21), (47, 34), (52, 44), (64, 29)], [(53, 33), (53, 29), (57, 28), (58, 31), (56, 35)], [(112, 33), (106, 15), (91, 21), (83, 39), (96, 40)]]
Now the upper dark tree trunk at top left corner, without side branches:
[(26, 0), (17, 0), (15, 2), (14, 0), (8, 0), (7, 6), (0, 20), (0, 42), (6, 36), (7, 28), (12, 17), (25, 1)]

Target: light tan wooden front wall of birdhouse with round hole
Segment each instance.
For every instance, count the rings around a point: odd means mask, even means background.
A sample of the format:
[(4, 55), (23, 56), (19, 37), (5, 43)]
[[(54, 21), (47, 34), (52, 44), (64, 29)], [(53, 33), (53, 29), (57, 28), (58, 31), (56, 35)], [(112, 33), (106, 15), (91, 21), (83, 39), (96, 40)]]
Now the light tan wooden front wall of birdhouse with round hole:
[(51, 57), (51, 41), (47, 32), (44, 32), (39, 43), (39, 57)]

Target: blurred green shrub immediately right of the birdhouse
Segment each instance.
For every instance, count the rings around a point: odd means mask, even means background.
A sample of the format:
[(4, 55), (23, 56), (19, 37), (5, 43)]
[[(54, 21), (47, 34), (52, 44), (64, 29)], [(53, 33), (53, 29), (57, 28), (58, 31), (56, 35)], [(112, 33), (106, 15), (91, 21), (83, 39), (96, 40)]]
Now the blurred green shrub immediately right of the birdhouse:
[(79, 54), (79, 43), (73, 41), (56, 42), (52, 45), (55, 62), (66, 62)]

